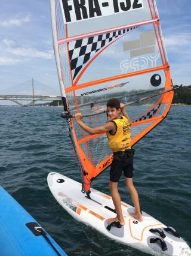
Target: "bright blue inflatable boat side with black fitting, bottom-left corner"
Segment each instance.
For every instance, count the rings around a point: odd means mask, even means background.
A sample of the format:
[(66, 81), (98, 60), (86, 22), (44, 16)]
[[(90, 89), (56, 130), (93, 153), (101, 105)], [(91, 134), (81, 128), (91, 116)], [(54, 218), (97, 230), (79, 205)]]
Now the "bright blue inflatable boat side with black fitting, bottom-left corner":
[(49, 234), (0, 186), (0, 255), (66, 255)]

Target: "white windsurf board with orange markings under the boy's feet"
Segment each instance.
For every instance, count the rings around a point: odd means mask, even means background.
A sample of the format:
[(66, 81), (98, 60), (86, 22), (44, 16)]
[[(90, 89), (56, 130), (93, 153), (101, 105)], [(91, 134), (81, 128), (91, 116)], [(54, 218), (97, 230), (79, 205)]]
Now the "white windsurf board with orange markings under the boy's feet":
[[(167, 226), (157, 219), (143, 212), (143, 221), (139, 222), (129, 215), (134, 212), (134, 207), (122, 202), (122, 212), (125, 218), (124, 227), (111, 227), (107, 230), (108, 218), (115, 218), (116, 213), (106, 209), (105, 206), (115, 209), (110, 195), (103, 194), (91, 188), (91, 200), (82, 194), (82, 185), (75, 180), (58, 173), (48, 174), (48, 186), (54, 198), (67, 212), (78, 221), (95, 228), (110, 239), (133, 248), (140, 249), (151, 255), (186, 255), (191, 256), (191, 250), (187, 243), (180, 237), (175, 237), (171, 232), (164, 230)], [(150, 239), (159, 237), (159, 233), (151, 233), (151, 228), (161, 228), (165, 233), (163, 239), (167, 245), (167, 250), (162, 251), (161, 242), (150, 243)]]

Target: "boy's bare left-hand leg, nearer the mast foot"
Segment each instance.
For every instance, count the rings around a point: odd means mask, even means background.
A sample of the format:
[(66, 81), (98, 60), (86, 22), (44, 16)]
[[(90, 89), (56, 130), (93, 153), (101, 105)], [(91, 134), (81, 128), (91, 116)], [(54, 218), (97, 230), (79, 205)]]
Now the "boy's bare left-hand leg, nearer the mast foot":
[(121, 197), (118, 192), (118, 182), (109, 182), (109, 189), (112, 194), (113, 204), (115, 206), (115, 210), (117, 216), (115, 218), (107, 219), (107, 223), (110, 224), (113, 221), (119, 221), (121, 225), (125, 225), (125, 219), (122, 214), (121, 209)]

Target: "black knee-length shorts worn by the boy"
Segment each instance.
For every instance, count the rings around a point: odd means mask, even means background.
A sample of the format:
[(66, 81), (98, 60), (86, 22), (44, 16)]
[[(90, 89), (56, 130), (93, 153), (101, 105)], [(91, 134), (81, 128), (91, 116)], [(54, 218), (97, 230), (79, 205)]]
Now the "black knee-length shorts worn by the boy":
[(122, 171), (127, 178), (133, 177), (134, 149), (113, 152), (113, 161), (110, 168), (110, 181), (119, 182)]

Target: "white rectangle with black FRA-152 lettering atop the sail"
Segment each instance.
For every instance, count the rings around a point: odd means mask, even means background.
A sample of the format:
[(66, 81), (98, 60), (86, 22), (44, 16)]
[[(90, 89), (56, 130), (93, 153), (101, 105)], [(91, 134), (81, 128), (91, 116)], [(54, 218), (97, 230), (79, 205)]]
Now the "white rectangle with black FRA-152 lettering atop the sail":
[(65, 23), (143, 8), (143, 0), (62, 0)]

